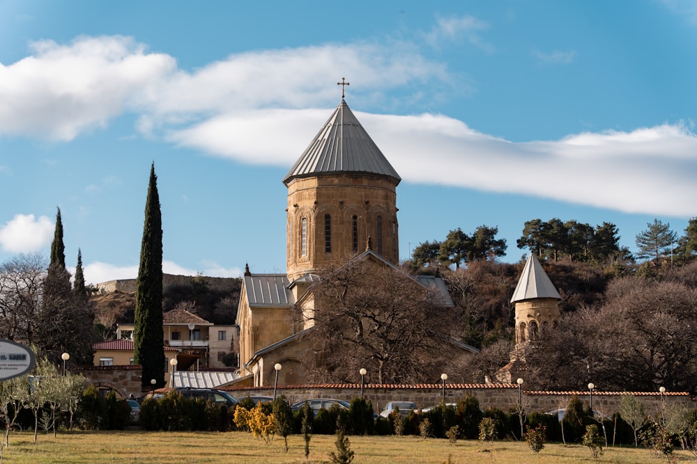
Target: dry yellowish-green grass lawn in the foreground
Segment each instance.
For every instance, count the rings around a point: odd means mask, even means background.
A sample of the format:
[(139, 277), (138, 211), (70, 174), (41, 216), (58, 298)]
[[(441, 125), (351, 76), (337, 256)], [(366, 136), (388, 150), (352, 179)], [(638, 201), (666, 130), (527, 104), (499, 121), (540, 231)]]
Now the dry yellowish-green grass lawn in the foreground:
[[(399, 463), (665, 463), (652, 451), (634, 447), (608, 448), (597, 459), (582, 445), (548, 443), (535, 454), (526, 442), (447, 440), (415, 436), (349, 437), (356, 464)], [(10, 434), (10, 447), (2, 451), (2, 463), (326, 463), (335, 451), (333, 435), (312, 435), (309, 458), (305, 459), (302, 435), (283, 438), (270, 445), (245, 432), (63, 432), (55, 438), (40, 433), (36, 443), (33, 433)], [(691, 453), (675, 450), (680, 462), (697, 462)]]

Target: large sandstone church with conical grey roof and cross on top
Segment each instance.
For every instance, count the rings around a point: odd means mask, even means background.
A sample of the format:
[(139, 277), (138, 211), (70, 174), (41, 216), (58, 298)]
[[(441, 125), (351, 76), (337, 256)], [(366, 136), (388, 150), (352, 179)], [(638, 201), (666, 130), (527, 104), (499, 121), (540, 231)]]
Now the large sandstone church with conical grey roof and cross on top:
[[(339, 85), (348, 85), (339, 83)], [(305, 152), (282, 179), (288, 189), (286, 273), (255, 274), (245, 266), (238, 305), (240, 381), (236, 385), (302, 385), (301, 355), (307, 322), (293, 318), (294, 305), (312, 312), (312, 286), (330, 264), (367, 259), (399, 265), (399, 174), (342, 100)], [(452, 307), (438, 275), (411, 276), (414, 285), (438, 292)], [(457, 344), (457, 342), (454, 342)], [(464, 355), (477, 350), (458, 344)]]

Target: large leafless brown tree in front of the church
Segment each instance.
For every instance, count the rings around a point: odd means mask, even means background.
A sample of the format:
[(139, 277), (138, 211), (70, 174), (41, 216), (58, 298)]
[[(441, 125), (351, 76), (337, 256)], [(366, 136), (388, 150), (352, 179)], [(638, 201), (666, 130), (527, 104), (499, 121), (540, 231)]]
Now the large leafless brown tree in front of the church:
[[(438, 291), (372, 259), (321, 272), (314, 310), (296, 306), (310, 330), (308, 376), (353, 381), (362, 367), (377, 383), (437, 381), (453, 349), (452, 307)], [(370, 376), (371, 374), (369, 374)]]

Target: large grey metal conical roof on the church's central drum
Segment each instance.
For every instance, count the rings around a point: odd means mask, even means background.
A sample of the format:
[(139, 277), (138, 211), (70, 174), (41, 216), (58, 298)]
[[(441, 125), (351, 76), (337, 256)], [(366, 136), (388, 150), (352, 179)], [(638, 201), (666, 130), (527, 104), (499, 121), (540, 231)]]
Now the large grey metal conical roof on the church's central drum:
[(283, 182), (288, 185), (296, 177), (335, 173), (381, 175), (395, 182), (395, 186), (401, 181), (343, 98)]

